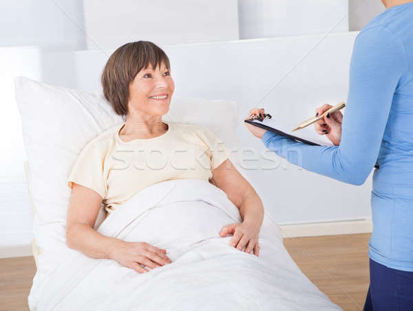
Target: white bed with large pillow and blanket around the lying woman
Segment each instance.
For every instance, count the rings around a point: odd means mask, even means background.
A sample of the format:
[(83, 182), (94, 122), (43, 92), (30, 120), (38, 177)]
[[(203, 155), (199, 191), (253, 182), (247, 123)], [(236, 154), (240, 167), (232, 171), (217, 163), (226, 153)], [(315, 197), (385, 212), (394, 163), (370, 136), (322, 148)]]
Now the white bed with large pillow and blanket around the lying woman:
[[(165, 248), (169, 265), (141, 275), (114, 260), (69, 249), (67, 176), (85, 143), (123, 119), (98, 94), (25, 77), (17, 78), (15, 86), (34, 216), (37, 270), (28, 297), (31, 311), (341, 310), (301, 273), (268, 214), (260, 231), (260, 256), (229, 246), (231, 235), (218, 233), (223, 225), (242, 221), (239, 211), (207, 181), (151, 185), (108, 218), (100, 208), (94, 229)], [(236, 110), (235, 102), (178, 98), (168, 117), (206, 126), (234, 150)], [(226, 116), (225, 122), (219, 115)]]

